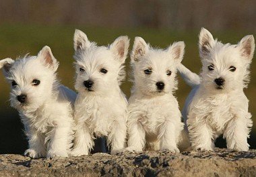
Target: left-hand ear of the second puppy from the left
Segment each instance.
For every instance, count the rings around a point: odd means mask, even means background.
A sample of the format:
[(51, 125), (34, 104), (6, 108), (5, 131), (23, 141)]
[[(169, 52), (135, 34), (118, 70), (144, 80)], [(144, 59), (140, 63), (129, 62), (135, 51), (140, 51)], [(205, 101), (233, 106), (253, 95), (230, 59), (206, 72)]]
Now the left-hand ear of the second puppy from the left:
[(79, 29), (75, 29), (74, 34), (74, 49), (75, 51), (82, 48), (88, 48), (90, 41), (88, 40), (86, 34)]

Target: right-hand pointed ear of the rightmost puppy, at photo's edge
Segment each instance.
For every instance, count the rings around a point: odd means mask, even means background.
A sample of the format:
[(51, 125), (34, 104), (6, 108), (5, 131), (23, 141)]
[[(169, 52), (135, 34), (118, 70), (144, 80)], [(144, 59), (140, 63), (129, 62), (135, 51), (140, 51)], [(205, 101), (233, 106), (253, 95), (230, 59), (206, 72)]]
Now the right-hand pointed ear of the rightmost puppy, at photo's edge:
[(253, 35), (245, 36), (239, 43), (238, 48), (240, 50), (241, 56), (247, 60), (253, 59), (253, 54), (255, 50), (255, 41)]

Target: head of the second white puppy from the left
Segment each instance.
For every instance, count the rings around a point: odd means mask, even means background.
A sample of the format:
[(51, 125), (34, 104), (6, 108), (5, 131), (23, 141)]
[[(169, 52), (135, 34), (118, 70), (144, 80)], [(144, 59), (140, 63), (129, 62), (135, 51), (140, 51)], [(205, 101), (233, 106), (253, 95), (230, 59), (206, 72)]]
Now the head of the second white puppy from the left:
[(79, 93), (108, 94), (119, 89), (125, 76), (129, 39), (120, 36), (110, 46), (97, 46), (84, 32), (75, 30), (75, 89)]

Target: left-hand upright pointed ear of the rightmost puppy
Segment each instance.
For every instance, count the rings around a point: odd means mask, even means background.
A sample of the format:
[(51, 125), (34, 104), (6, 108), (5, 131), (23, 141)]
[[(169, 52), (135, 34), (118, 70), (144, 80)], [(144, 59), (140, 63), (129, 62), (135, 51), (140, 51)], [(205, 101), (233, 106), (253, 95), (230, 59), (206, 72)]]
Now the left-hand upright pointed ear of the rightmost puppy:
[(199, 34), (199, 52), (200, 56), (205, 56), (210, 52), (210, 49), (214, 46), (214, 37), (212, 34), (205, 28), (201, 28)]

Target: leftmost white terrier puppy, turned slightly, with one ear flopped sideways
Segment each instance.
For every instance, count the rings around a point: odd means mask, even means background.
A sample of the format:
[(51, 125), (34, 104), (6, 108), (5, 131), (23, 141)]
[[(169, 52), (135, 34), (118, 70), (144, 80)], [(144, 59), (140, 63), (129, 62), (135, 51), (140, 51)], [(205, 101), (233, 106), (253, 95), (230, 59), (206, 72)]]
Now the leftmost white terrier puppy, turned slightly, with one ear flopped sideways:
[(30, 158), (67, 157), (73, 140), (73, 110), (76, 94), (59, 84), (59, 62), (48, 46), (38, 56), (0, 60), (5, 78), (11, 84), (11, 106), (20, 113)]

